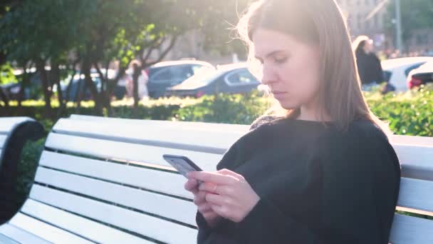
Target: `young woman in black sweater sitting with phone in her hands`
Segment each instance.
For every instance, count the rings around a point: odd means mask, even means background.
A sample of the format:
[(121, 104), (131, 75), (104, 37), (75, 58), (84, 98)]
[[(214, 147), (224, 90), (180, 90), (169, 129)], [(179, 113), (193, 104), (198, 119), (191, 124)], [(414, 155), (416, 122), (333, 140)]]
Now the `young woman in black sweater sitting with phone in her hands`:
[(283, 113), (190, 173), (198, 243), (388, 243), (400, 164), (335, 1), (257, 1), (239, 30)]

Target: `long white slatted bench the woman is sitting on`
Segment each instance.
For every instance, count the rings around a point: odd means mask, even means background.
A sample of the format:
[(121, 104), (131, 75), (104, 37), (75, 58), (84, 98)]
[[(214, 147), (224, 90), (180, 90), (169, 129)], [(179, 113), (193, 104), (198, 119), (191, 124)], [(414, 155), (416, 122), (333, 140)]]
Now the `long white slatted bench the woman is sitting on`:
[[(249, 126), (62, 118), (48, 135), (28, 200), (0, 226), (5, 243), (195, 243), (186, 181), (162, 158), (216, 163)], [(398, 137), (396, 137), (398, 138)], [(433, 215), (433, 139), (402, 140), (399, 208)], [(397, 140), (397, 139), (396, 139)], [(425, 140), (425, 141), (424, 141)], [(430, 163), (429, 163), (430, 162)], [(433, 243), (433, 220), (396, 214), (392, 243)], [(3, 238), (3, 239), (1, 239)]]

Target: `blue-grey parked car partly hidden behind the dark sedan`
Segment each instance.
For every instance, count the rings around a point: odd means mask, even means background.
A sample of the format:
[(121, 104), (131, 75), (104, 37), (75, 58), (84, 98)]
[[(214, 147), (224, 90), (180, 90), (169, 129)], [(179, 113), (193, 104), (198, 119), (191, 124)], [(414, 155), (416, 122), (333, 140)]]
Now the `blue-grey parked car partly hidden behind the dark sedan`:
[(146, 70), (149, 76), (147, 82), (149, 96), (152, 98), (163, 96), (166, 88), (182, 83), (202, 69), (214, 71), (215, 67), (204, 61), (164, 61), (150, 66)]

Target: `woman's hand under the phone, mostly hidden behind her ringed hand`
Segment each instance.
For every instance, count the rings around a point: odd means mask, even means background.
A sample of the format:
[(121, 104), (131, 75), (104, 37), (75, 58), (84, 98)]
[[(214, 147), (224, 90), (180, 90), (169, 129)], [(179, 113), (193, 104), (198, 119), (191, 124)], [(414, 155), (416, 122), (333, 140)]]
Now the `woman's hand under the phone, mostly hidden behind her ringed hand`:
[(194, 194), (194, 204), (197, 205), (197, 209), (202, 213), (204, 219), (207, 221), (210, 227), (216, 225), (221, 220), (221, 216), (212, 210), (211, 205), (206, 201), (207, 191), (199, 190), (199, 184), (194, 179), (189, 179), (185, 183), (185, 189)]

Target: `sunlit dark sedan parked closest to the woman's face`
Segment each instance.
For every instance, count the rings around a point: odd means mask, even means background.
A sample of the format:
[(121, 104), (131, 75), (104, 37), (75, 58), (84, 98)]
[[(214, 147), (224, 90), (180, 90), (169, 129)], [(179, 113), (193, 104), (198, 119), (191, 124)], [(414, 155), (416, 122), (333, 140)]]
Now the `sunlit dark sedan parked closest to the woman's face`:
[(197, 73), (182, 84), (167, 88), (166, 95), (198, 98), (214, 93), (247, 93), (259, 84), (245, 63), (235, 63), (221, 66), (216, 71)]

